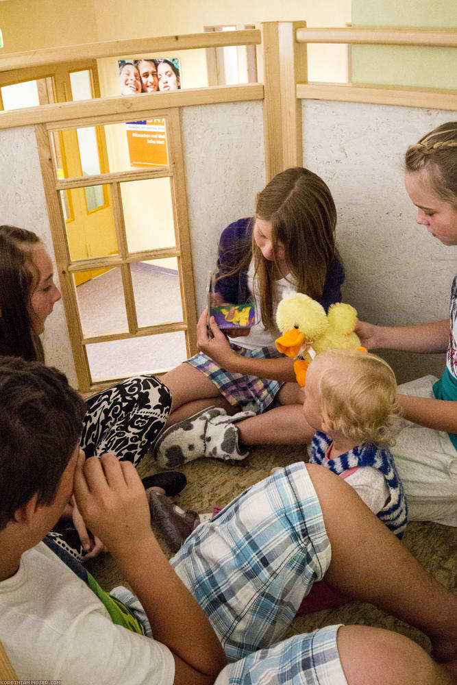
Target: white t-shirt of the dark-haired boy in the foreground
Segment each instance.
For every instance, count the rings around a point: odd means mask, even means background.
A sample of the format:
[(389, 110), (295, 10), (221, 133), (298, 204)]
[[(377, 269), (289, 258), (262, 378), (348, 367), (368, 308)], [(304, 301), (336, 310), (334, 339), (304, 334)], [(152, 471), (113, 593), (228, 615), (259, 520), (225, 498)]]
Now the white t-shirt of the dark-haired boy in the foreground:
[(44, 543), (0, 582), (0, 614), (0, 639), (20, 680), (173, 685), (169, 648), (114, 625), (95, 593)]

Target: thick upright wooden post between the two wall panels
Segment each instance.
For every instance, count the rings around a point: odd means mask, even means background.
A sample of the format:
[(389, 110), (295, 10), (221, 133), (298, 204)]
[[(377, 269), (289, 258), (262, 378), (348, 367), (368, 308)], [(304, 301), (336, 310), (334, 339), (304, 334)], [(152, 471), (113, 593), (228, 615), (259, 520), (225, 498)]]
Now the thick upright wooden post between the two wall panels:
[(301, 103), (296, 84), (308, 82), (306, 43), (297, 43), (304, 21), (262, 23), (264, 147), (267, 182), (303, 164)]

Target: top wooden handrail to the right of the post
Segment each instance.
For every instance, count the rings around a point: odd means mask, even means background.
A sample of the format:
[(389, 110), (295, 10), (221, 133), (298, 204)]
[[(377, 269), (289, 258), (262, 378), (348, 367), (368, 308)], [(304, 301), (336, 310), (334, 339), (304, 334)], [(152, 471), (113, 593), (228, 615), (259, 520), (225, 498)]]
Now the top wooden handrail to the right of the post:
[(457, 31), (380, 27), (297, 29), (297, 42), (457, 47)]

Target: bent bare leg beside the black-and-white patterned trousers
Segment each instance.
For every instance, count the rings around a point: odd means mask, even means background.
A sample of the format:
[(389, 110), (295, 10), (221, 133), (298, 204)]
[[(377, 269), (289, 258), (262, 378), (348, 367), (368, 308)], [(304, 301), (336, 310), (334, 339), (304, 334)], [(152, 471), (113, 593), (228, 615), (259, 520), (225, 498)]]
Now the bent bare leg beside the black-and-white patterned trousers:
[(236, 409), (225, 400), (208, 376), (190, 364), (180, 364), (160, 380), (171, 393), (171, 412), (166, 425), (184, 421), (206, 407), (222, 407), (232, 414)]

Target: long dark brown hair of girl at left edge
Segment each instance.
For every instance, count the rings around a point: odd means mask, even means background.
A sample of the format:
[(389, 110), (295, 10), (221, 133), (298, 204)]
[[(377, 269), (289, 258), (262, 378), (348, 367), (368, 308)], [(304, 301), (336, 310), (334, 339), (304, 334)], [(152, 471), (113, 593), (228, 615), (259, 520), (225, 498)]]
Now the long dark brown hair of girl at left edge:
[[(45, 360), (30, 316), (38, 272), (32, 249), (40, 238), (16, 226), (0, 226), (0, 354)], [(24, 249), (23, 245), (27, 247)]]

